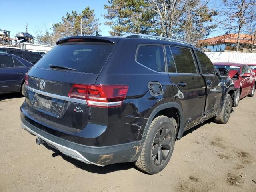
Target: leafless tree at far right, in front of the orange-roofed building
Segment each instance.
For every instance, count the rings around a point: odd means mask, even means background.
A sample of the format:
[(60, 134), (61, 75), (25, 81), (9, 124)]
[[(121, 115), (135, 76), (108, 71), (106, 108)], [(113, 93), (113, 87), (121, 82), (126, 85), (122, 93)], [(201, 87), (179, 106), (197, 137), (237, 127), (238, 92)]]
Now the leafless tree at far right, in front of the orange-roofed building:
[(246, 24), (256, 19), (256, 0), (222, 0), (221, 11), (224, 20), (220, 21), (226, 33), (237, 33), (236, 52), (240, 46), (240, 36)]

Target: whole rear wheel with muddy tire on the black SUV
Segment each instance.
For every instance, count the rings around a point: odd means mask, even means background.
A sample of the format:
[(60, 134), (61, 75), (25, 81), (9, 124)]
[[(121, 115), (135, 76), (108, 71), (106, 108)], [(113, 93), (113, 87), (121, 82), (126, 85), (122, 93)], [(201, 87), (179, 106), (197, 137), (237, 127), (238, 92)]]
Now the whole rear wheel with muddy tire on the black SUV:
[(173, 121), (163, 115), (156, 117), (148, 128), (142, 151), (135, 165), (148, 174), (162, 171), (172, 156), (175, 137)]

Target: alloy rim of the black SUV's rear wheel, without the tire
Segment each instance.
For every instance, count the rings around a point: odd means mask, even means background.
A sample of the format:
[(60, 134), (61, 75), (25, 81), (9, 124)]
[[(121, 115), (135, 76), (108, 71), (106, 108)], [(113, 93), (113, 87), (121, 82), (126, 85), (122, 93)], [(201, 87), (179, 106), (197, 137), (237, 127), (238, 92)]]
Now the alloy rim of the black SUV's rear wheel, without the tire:
[(152, 144), (152, 161), (155, 165), (161, 165), (168, 158), (172, 145), (172, 134), (166, 126), (156, 133)]

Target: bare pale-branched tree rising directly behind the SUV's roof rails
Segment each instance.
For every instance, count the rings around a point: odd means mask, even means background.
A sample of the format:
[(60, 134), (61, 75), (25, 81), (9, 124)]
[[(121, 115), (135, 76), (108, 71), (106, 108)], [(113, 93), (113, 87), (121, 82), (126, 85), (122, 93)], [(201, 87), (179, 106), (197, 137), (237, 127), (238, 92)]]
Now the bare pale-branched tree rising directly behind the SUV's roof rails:
[[(204, 28), (203, 23), (211, 21), (211, 17), (218, 14), (208, 9), (207, 4), (209, 1), (210, 0), (150, 0), (152, 6), (145, 11), (154, 11), (157, 13), (154, 18), (154, 23), (156, 24), (156, 28), (158, 28), (156, 34), (170, 38), (184, 39), (184, 33), (182, 34), (182, 32), (184, 32), (186, 28), (187, 37), (185, 39), (190, 40), (188, 30), (194, 30), (194, 24), (196, 22), (198, 22), (198, 28)], [(199, 25), (199, 21), (201, 25)]]

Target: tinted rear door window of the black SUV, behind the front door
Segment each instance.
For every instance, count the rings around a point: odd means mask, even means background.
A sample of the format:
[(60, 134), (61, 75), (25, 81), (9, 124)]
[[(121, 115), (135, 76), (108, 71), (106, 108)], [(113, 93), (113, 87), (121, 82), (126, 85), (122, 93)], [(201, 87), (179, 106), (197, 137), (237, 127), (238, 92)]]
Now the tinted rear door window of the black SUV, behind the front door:
[(190, 49), (171, 47), (171, 50), (178, 73), (197, 73)]

